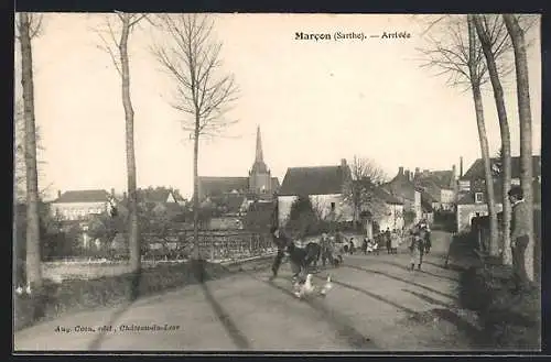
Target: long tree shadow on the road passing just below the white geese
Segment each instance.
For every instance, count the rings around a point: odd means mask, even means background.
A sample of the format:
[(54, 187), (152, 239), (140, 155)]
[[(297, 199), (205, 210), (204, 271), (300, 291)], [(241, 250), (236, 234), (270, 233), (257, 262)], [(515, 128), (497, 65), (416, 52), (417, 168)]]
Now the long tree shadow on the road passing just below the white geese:
[[(290, 298), (296, 300), (296, 296), (287, 288), (277, 285), (273, 281), (266, 281), (260, 278), (258, 275), (255, 275), (250, 272), (244, 272), (249, 277), (259, 281), (271, 288), (278, 289), (279, 292), (288, 295)], [(299, 300), (296, 300), (299, 301)], [(321, 318), (324, 318), (329, 322), (329, 325), (335, 329), (338, 337), (341, 337), (352, 349), (355, 350), (380, 350), (370, 338), (364, 336), (360, 331), (358, 331), (353, 326), (348, 325), (344, 321), (344, 317), (341, 316), (335, 310), (327, 308), (323, 304), (323, 299), (302, 299), (302, 303), (306, 303), (312, 309), (314, 309)]]

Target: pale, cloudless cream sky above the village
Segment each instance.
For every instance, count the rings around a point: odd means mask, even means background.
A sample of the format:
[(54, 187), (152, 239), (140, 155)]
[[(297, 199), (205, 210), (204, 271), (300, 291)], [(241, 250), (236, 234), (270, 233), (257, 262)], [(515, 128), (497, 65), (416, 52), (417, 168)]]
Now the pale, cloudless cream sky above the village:
[[(120, 79), (100, 50), (102, 14), (44, 14), (33, 40), (36, 124), (42, 165), (39, 187), (57, 190), (126, 190), (125, 113)], [(114, 17), (114, 15), (109, 15)], [(247, 176), (260, 127), (264, 161), (280, 183), (288, 167), (336, 165), (357, 155), (374, 160), (389, 177), (399, 166), (464, 171), (480, 155), (472, 94), (450, 87), (426, 69), (420, 47), (426, 26), (413, 15), (215, 14), (223, 70), (234, 74), (239, 99), (224, 138), (199, 146), (199, 175)], [(407, 32), (409, 39), (295, 40), (296, 32)], [(184, 114), (170, 106), (173, 83), (150, 46), (147, 23), (130, 37), (131, 98), (138, 186), (193, 191), (193, 143)], [(541, 147), (539, 28), (530, 36), (533, 150)], [(21, 96), (15, 44), (15, 99)], [(506, 85), (512, 154), (519, 130), (515, 78)], [(484, 92), (493, 154), (500, 144), (491, 89)]]

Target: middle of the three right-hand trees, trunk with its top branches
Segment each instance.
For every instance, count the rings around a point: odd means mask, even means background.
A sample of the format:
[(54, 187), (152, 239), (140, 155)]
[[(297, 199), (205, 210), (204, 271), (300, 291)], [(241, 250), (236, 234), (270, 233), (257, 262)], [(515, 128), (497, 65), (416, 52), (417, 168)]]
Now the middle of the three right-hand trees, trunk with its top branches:
[[(501, 133), (500, 147), (500, 178), (501, 178), (501, 199), (503, 199), (503, 262), (506, 265), (512, 263), (510, 251), (509, 228), (511, 221), (511, 206), (508, 202), (508, 193), (511, 186), (511, 141), (509, 133), (509, 122), (507, 120), (507, 109), (505, 107), (504, 88), (499, 79), (499, 69), (496, 63), (494, 48), (505, 44), (507, 37), (503, 20), (498, 15), (473, 15), (476, 33), (480, 41), (480, 46), (486, 58), (488, 75), (494, 90), (496, 101), (497, 117), (499, 120), (499, 130)], [(507, 48), (501, 46), (501, 48)]]

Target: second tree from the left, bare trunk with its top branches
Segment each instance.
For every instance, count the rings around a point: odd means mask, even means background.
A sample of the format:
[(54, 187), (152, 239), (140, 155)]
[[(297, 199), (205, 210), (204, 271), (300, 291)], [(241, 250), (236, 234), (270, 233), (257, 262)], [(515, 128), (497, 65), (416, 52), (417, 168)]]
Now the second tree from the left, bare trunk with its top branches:
[[(115, 17), (115, 15), (112, 15)], [(134, 111), (130, 98), (130, 62), (128, 43), (130, 34), (144, 14), (116, 13), (116, 21), (106, 19), (107, 36), (98, 32), (102, 48), (110, 55), (121, 79), (122, 107), (125, 108), (127, 187), (128, 187), (128, 228), (130, 245), (130, 267), (137, 273), (141, 268), (140, 231), (138, 220), (136, 152), (134, 152)]]

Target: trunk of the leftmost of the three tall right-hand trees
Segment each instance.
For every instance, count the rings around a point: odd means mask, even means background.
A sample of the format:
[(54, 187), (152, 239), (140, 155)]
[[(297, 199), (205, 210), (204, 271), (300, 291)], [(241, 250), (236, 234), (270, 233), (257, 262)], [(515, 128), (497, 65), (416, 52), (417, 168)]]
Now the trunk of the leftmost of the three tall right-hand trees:
[(476, 124), (478, 127), (478, 138), (480, 141), (480, 152), (484, 161), (484, 178), (486, 182), (486, 201), (488, 204), (488, 215), (489, 215), (489, 254), (497, 255), (498, 254), (498, 228), (497, 228), (497, 212), (496, 212), (496, 202), (494, 196), (494, 179), (491, 177), (491, 165), (489, 158), (489, 147), (488, 147), (488, 139), (486, 138), (486, 125), (484, 122), (484, 107), (482, 100), (480, 92), (480, 81), (479, 75), (477, 73), (477, 65), (473, 59), (476, 57), (476, 30), (474, 26), (473, 15), (467, 15), (468, 23), (468, 52), (469, 52), (469, 78), (471, 78), (471, 87), (473, 90), (473, 100), (475, 103), (475, 112), (476, 112)]

